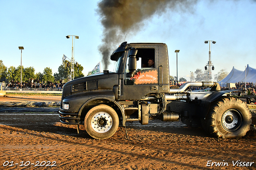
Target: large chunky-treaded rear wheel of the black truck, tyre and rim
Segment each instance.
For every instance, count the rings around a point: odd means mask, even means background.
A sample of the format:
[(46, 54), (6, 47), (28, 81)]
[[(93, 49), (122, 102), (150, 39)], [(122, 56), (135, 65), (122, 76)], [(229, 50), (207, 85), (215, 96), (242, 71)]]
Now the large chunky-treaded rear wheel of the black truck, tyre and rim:
[(204, 123), (205, 130), (217, 138), (240, 138), (250, 130), (252, 115), (248, 106), (234, 97), (212, 102)]

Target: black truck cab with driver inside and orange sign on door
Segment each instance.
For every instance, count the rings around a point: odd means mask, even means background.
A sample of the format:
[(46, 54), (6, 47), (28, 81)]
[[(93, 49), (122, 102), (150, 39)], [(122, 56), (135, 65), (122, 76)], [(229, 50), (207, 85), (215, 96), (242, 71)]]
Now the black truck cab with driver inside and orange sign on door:
[[(126, 45), (126, 50), (120, 51), (124, 45)], [(125, 42), (119, 48), (116, 51), (120, 52), (114, 51), (110, 57), (119, 63), (117, 73), (120, 75), (121, 89), (118, 100), (140, 100), (151, 93), (169, 92), (169, 62), (166, 44), (126, 44)], [(152, 67), (148, 67), (150, 59), (154, 61)]]

